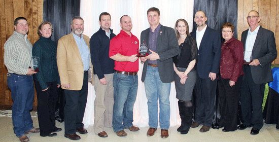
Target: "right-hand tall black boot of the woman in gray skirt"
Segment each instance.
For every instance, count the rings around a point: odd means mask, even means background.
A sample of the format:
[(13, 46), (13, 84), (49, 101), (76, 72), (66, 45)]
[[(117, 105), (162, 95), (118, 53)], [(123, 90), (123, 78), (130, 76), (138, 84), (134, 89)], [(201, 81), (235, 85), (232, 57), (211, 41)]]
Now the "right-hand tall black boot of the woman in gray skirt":
[(193, 117), (193, 107), (186, 107), (186, 104), (184, 104), (184, 110), (185, 110), (185, 126), (181, 130), (181, 134), (187, 134), (191, 125), (192, 125), (192, 117)]

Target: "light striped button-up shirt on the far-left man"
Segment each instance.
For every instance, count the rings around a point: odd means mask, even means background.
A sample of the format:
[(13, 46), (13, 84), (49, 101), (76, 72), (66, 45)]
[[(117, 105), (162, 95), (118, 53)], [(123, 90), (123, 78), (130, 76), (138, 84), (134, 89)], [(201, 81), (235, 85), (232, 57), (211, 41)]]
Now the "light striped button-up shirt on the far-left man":
[(14, 31), (6, 41), (4, 50), (4, 64), (8, 73), (26, 75), (32, 58), (32, 45), (27, 39), (27, 34), (22, 35)]

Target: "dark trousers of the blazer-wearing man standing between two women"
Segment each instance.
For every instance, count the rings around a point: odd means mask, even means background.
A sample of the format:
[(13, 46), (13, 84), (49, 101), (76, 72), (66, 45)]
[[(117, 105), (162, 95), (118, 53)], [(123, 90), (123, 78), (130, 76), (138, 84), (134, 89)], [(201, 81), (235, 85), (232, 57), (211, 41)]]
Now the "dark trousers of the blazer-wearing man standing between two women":
[(196, 122), (205, 126), (212, 126), (214, 116), (214, 102), (216, 97), (217, 79), (201, 79), (197, 75), (195, 85)]

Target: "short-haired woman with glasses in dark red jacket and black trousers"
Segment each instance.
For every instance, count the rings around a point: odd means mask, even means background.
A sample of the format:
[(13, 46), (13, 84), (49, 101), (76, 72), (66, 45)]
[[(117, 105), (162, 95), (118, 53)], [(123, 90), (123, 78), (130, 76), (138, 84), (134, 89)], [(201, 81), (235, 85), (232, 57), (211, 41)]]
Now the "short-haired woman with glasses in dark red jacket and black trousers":
[(222, 26), (222, 53), (220, 60), (220, 75), (224, 85), (224, 132), (237, 129), (237, 111), (240, 87), (244, 75), (243, 66), (243, 44), (233, 37), (234, 26), (224, 23)]

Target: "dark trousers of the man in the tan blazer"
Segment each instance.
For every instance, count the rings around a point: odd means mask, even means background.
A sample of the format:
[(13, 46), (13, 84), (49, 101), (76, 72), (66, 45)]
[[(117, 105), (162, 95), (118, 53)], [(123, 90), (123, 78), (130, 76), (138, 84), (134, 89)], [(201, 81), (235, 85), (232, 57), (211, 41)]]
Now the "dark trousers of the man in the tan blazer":
[(77, 128), (83, 128), (83, 116), (86, 107), (88, 93), (88, 72), (83, 75), (81, 90), (64, 89), (66, 104), (65, 113), (65, 134), (76, 133)]

